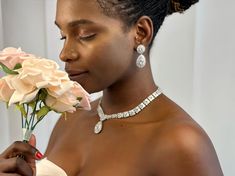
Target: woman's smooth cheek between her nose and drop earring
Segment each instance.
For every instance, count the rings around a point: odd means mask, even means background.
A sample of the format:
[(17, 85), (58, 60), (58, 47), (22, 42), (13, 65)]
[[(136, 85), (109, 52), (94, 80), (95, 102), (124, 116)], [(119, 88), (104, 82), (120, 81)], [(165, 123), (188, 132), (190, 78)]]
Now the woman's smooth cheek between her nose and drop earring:
[(84, 87), (90, 92), (107, 88), (135, 67), (133, 47), (127, 38), (99, 40), (89, 47), (85, 55), (90, 77)]

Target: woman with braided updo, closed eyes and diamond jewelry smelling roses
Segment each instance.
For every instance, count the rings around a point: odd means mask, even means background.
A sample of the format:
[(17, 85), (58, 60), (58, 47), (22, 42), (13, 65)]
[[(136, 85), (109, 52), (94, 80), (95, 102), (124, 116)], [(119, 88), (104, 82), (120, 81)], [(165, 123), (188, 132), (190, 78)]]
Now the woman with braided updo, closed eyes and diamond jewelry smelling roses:
[[(57, 1), (65, 69), (103, 97), (91, 111), (59, 119), (37, 175), (223, 175), (206, 133), (161, 93), (150, 69), (149, 51), (164, 18), (196, 2)], [(15, 142), (1, 154), (0, 175), (35, 173), (42, 155), (34, 137), (30, 144)]]

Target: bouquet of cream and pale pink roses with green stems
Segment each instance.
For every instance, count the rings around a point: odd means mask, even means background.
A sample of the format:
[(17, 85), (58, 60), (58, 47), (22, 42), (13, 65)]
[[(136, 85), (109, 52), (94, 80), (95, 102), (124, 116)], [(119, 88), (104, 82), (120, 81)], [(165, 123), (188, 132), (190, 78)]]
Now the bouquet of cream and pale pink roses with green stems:
[(6, 74), (0, 78), (0, 100), (20, 110), (24, 141), (50, 111), (90, 109), (89, 94), (52, 60), (5, 48), (0, 51), (0, 68)]

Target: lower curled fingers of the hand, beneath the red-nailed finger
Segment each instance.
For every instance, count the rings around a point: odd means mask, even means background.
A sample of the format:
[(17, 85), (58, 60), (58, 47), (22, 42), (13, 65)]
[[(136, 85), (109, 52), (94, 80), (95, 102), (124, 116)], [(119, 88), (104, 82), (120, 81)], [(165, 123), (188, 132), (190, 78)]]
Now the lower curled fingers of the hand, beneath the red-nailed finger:
[[(8, 160), (2, 160), (0, 161), (0, 176), (5, 175), (8, 173), (13, 174), (17, 173), (19, 175), (23, 176), (32, 176), (33, 170), (32, 168), (27, 164), (27, 162), (19, 157), (10, 158)], [(14, 174), (13, 174), (14, 175)]]

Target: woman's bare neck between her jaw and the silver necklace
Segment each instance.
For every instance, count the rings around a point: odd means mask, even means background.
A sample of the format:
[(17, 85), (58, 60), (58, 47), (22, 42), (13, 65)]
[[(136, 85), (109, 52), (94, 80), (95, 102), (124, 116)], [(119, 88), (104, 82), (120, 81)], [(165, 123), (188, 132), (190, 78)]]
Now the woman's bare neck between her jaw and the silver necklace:
[(151, 69), (139, 70), (103, 91), (101, 106), (105, 113), (117, 113), (137, 106), (157, 89)]

